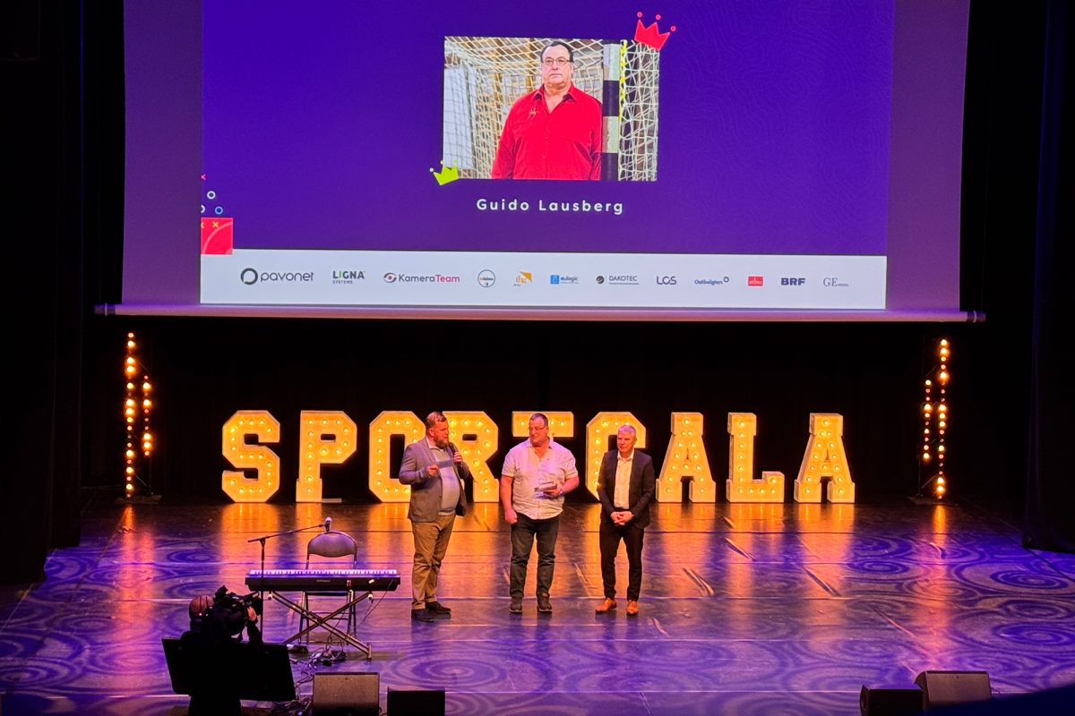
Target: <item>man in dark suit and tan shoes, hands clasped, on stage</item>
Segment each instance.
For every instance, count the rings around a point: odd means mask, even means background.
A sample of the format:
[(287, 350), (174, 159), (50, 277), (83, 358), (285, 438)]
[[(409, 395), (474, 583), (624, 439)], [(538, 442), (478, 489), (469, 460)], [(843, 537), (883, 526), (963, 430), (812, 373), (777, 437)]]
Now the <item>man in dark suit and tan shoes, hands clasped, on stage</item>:
[(642, 589), (642, 538), (649, 524), (649, 503), (656, 491), (654, 461), (634, 449), (639, 434), (631, 425), (616, 430), (616, 450), (601, 459), (598, 497), (601, 499), (601, 581), (605, 599), (598, 614), (616, 609), (616, 552), (627, 546), (627, 615), (637, 616)]

